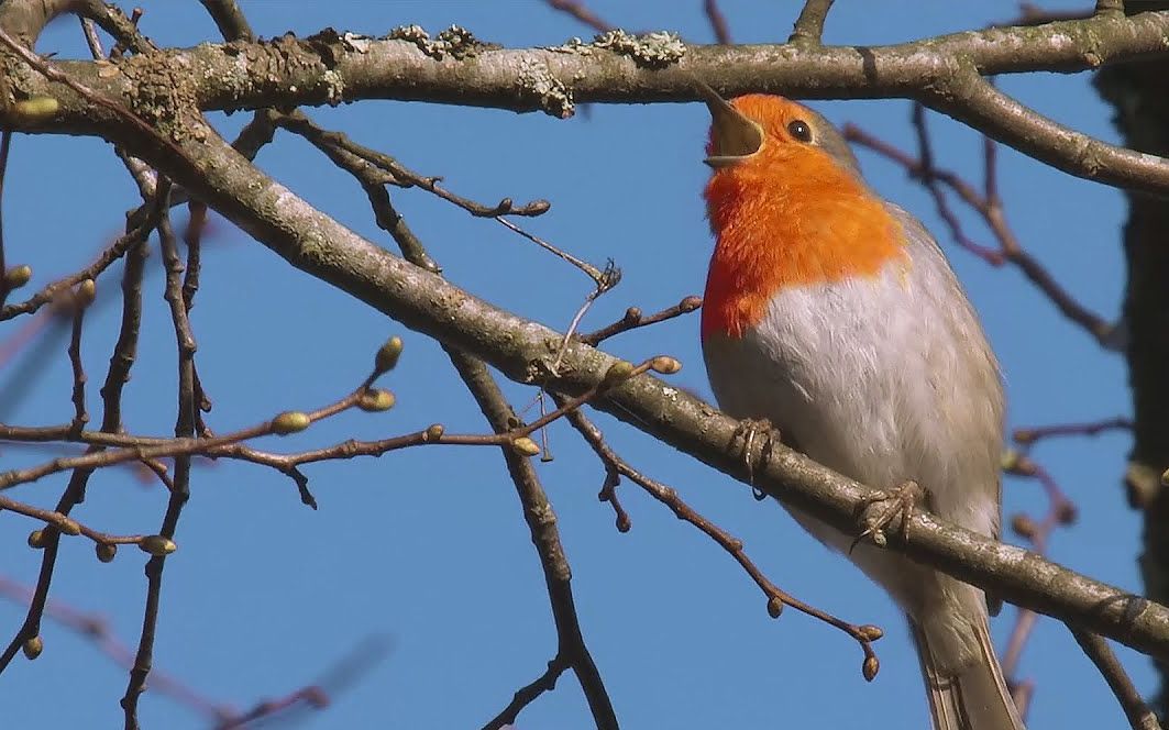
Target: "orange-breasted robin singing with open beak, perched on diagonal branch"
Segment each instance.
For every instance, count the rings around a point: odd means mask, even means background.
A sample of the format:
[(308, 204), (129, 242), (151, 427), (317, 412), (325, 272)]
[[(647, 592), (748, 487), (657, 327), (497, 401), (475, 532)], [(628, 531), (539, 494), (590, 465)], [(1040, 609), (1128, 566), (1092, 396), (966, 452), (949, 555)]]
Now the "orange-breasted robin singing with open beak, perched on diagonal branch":
[[(865, 183), (818, 113), (779, 96), (705, 93), (717, 242), (701, 338), (720, 408), (773, 424), (877, 498), (915, 482), (933, 514), (997, 538), (1002, 380), (945, 255)], [(936, 730), (1023, 728), (983, 591), (791, 513), (905, 611)]]

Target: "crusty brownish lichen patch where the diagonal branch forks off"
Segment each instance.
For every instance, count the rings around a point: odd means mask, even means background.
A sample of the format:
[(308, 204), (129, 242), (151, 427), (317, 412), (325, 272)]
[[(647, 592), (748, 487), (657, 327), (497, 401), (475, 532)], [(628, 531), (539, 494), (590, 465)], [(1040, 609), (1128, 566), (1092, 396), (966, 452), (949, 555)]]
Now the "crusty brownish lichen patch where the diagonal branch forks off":
[(131, 82), (126, 99), (136, 116), (174, 141), (205, 135), (201, 125), (187, 124), (199, 118), (199, 109), (195, 83), (182, 54), (136, 54), (118, 68)]

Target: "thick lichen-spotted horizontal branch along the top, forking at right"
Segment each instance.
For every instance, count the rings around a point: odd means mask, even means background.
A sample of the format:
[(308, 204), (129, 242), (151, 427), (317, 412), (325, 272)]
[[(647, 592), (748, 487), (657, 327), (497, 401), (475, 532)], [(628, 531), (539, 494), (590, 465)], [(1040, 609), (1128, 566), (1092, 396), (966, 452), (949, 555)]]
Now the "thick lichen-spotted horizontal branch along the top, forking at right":
[[(611, 40), (554, 49), (497, 49), (469, 35), (451, 43), (403, 29), (395, 37), (409, 40), (326, 30), (305, 40), (284, 36), (136, 55), (117, 64), (118, 74), (92, 62), (63, 61), (53, 67), (130, 109), (148, 98), (150, 109), (136, 111), (171, 135), (177, 134), (181, 114), (177, 118), (175, 112), (182, 104), (207, 111), (381, 98), (544, 110), (567, 117), (577, 102), (699, 100), (694, 76), (727, 96), (761, 91), (805, 98), (907, 97), (1071, 174), (1165, 194), (1169, 161), (1063, 127), (989, 88), (978, 76), (1078, 71), (1160, 57), (1167, 35), (1169, 12), (1108, 13), (880, 47), (803, 42), (687, 47), (659, 34), (617, 44), (620, 51), (611, 49)], [(13, 107), (0, 116), (6, 126), (109, 135), (109, 123), (125, 124), (108, 109), (82, 103), (76, 92), (46, 83), (39, 74), (12, 76), (16, 98), (54, 96), (62, 107), (51, 120), (29, 119)], [(175, 109), (159, 104), (159, 84), (173, 89)], [(143, 85), (153, 91), (140, 93)]]

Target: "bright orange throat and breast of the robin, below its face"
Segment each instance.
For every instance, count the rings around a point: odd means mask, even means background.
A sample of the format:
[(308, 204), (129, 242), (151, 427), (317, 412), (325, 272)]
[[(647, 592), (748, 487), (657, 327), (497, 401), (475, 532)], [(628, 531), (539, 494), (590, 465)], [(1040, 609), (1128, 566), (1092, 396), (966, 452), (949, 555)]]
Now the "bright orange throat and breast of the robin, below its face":
[(894, 259), (908, 265), (900, 223), (852, 173), (824, 162), (798, 155), (776, 171), (747, 161), (712, 175), (705, 195), (717, 242), (704, 339), (741, 338), (786, 287), (876, 277)]

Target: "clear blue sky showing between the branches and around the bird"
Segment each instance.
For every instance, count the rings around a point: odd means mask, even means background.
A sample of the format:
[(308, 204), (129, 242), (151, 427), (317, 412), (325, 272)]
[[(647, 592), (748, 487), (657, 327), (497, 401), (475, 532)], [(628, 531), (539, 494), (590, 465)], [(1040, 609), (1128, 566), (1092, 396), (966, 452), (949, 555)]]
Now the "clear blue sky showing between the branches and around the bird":
[[(196, 2), (143, 1), (145, 32), (164, 46), (215, 40)], [(419, 23), (436, 33), (459, 23), (506, 46), (558, 44), (589, 30), (535, 0), (507, 2), (399, 0), (372, 2), (244, 1), (264, 36), (310, 34), (325, 26), (381, 35)], [(978, 27), (1017, 12), (1014, 1), (922, 4), (841, 2), (825, 40), (887, 43)], [(1080, 7), (1085, 2), (1050, 4)], [(787, 37), (798, 2), (725, 0), (735, 40)], [(610, 22), (632, 29), (679, 30), (708, 42), (699, 0), (595, 0)], [(39, 50), (83, 54), (74, 21), (48, 29)], [(1115, 140), (1087, 75), (1037, 74), (1002, 79), (1022, 100), (1071, 126)], [(902, 146), (912, 145), (908, 104), (816, 104), (830, 119), (856, 121)], [(705, 109), (687, 105), (593, 106), (568, 121), (454, 106), (361, 103), (313, 110), (321, 124), (397, 155), (424, 174), (483, 201), (546, 197), (552, 211), (527, 222), (535, 234), (596, 263), (614, 258), (621, 286), (590, 312), (586, 328), (637, 305), (656, 311), (701, 293), (711, 239), (700, 189)], [(216, 116), (231, 133), (248, 114)], [(977, 174), (976, 134), (935, 117), (941, 162)], [(1007, 374), (1010, 423), (1086, 420), (1128, 410), (1121, 359), (1101, 353), (1065, 322), (1017, 273), (994, 270), (956, 250), (927, 195), (893, 166), (860, 154), (883, 195), (919, 215), (939, 235), (983, 317)], [(260, 158), (263, 168), (323, 210), (374, 241), (360, 189), (303, 141), (282, 135)], [(1120, 193), (1004, 151), (1002, 194), (1021, 241), (1085, 304), (1114, 317), (1122, 294)], [(83, 265), (118, 231), (137, 193), (111, 154), (94, 139), (18, 137), (6, 180), (5, 242), (9, 264), (29, 263), (34, 284)], [(393, 192), (415, 230), (451, 280), (502, 306), (562, 328), (588, 291), (575, 270), (490, 222), (472, 220), (426, 193)], [(68, 213), (67, 213), (68, 211)], [(967, 217), (970, 231), (989, 243)], [(217, 431), (258, 422), (285, 409), (312, 408), (346, 392), (365, 375), (389, 334), (406, 352), (386, 383), (399, 405), (385, 415), (355, 413), (302, 437), (263, 444), (288, 450), (348, 436), (382, 437), (441, 422), (450, 431), (484, 424), (438, 347), (328, 286), (293, 271), (244, 234), (217, 221), (205, 253), (193, 322), (199, 369)], [(126, 425), (134, 433), (172, 432), (174, 340), (161, 299), (159, 257), (146, 284), (141, 357), (127, 387)], [(90, 408), (104, 377), (118, 315), (119, 274), (103, 278), (88, 320), (84, 357)], [(20, 322), (0, 327), (0, 341)], [(0, 403), (0, 419), (21, 424), (68, 420), (69, 370), (64, 338), (19, 403)], [(627, 335), (611, 352), (629, 359), (679, 357), (673, 380), (710, 397), (692, 315)], [(4, 392), (20, 360), (0, 371)], [(519, 405), (534, 395), (510, 387)], [(800, 531), (772, 502), (690, 458), (604, 416), (597, 420), (636, 466), (678, 488), (686, 500), (746, 542), (782, 588), (857, 623), (886, 628), (876, 646), (880, 675), (866, 683), (860, 652), (843, 634), (794, 611), (768, 618), (765, 600), (729, 557), (667, 510), (623, 487), (632, 531), (613, 528), (597, 502), (602, 470), (563, 424), (551, 429), (556, 459), (540, 473), (556, 507), (574, 571), (581, 624), (628, 728), (924, 728), (926, 703), (901, 619), (888, 599), (838, 556)], [(1043, 445), (1036, 453), (1080, 507), (1080, 522), (1051, 547), (1061, 563), (1139, 591), (1135, 568), (1140, 522), (1123, 499), (1120, 477), (1126, 436)], [(5, 449), (2, 468), (44, 458)], [(534, 679), (555, 648), (545, 590), (516, 495), (491, 450), (426, 449), (380, 460), (310, 466), (319, 512), (303, 507), (292, 484), (271, 471), (236, 464), (202, 465), (180, 523), (179, 551), (167, 561), (155, 661), (203, 695), (236, 707), (283, 695), (319, 679), (371, 635), (390, 652), (334, 697), (314, 728), (479, 726)], [(51, 505), (63, 477), (22, 487), (15, 496)], [(1008, 480), (1007, 514), (1045, 507), (1037, 484)], [(122, 533), (154, 531), (165, 508), (157, 486), (125, 472), (91, 481), (75, 513), (88, 524)], [(0, 516), (6, 577), (32, 584), (40, 555), (25, 547), (35, 524)], [(1107, 537), (1105, 537), (1107, 536)], [(145, 556), (123, 550), (112, 564), (91, 545), (68, 540), (53, 597), (108, 617), (124, 640), (137, 641)], [(0, 602), (0, 627), (15, 631), (23, 609)], [(996, 620), (999, 642), (1014, 620)], [(84, 640), (47, 623), (44, 654), (18, 659), (0, 677), (8, 726), (120, 726), (117, 700), (126, 682)], [(1154, 688), (1146, 659), (1125, 652), (1137, 686)], [(1040, 621), (1023, 663), (1037, 682), (1030, 725), (1120, 726), (1115, 701), (1058, 623)], [(146, 728), (202, 728), (199, 716), (147, 693)], [(874, 721), (881, 717), (881, 721)], [(526, 730), (589, 726), (575, 681), (530, 707)]]

